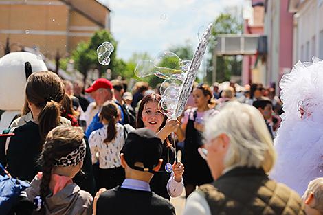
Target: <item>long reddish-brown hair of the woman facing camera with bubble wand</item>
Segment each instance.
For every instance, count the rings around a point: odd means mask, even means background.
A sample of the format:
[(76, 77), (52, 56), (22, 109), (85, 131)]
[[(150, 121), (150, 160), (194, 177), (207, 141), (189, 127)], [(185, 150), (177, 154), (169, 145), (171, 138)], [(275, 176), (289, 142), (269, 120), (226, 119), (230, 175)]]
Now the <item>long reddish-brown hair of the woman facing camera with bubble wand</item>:
[[(161, 100), (161, 95), (155, 94), (155, 93), (148, 94), (144, 98), (142, 98), (142, 100), (140, 101), (140, 106), (137, 113), (137, 122), (136, 122), (137, 128), (144, 128), (144, 122), (142, 121), (142, 112), (146, 110), (146, 106), (148, 102), (159, 103), (160, 100)], [(166, 120), (167, 120), (166, 114), (163, 114), (163, 117), (164, 117), (164, 120), (163, 120), (163, 123), (161, 123), (161, 126), (159, 127), (159, 131), (166, 124)], [(169, 139), (166, 139), (166, 146), (168, 147), (172, 146)]]

